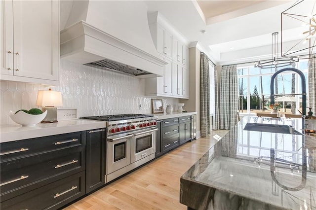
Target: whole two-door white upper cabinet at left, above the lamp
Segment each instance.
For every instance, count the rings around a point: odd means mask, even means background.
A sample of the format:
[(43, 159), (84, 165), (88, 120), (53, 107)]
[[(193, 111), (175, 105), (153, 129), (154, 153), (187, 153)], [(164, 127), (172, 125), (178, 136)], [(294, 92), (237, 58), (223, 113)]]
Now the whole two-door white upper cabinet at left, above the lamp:
[(1, 0), (1, 79), (58, 84), (59, 1)]

